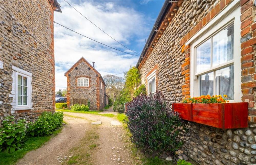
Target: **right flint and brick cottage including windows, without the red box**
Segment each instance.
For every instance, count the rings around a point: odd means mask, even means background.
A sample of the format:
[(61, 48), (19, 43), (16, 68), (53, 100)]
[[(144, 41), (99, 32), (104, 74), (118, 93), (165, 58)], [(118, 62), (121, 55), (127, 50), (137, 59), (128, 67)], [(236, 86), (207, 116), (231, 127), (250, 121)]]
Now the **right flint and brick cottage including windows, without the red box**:
[(187, 122), (182, 159), (256, 163), (255, 6), (255, 0), (166, 0), (159, 13), (136, 65), (147, 93), (161, 91), (169, 108), (207, 94), (249, 106), (248, 128)]

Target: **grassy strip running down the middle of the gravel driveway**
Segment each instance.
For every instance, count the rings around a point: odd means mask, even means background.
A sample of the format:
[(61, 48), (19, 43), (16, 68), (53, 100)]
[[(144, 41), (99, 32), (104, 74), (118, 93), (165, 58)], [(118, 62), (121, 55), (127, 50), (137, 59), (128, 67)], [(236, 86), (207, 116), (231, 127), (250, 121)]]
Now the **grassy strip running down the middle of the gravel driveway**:
[(99, 144), (97, 144), (99, 135), (95, 132), (95, 129), (97, 129), (97, 127), (86, 132), (86, 136), (79, 142), (79, 146), (70, 150), (73, 156), (63, 164), (91, 164), (91, 152), (99, 146)]

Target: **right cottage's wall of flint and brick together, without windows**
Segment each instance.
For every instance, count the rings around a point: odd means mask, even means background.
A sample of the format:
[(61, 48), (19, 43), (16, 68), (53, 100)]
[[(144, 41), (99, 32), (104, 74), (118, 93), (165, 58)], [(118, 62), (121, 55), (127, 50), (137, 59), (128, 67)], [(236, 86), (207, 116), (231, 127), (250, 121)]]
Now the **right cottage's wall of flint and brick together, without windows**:
[[(174, 16), (170, 23), (159, 39), (155, 38), (157, 41), (153, 40), (153, 42), (157, 42), (155, 47), (151, 52), (147, 52), (150, 55), (144, 58), (144, 61), (142, 60), (138, 68), (140, 69), (142, 83), (147, 84), (146, 77), (148, 73), (157, 65), (157, 90), (162, 92), (169, 108), (171, 108), (172, 103), (179, 103), (185, 96), (189, 95), (190, 47), (189, 45), (184, 46), (184, 41), (189, 37), (188, 34), (191, 37), (195, 34), (194, 31), (197, 32), (199, 28), (206, 24), (205, 21), (208, 23), (216, 13), (218, 14), (221, 9), (227, 7), (231, 2), (233, 1), (178, 1), (178, 5), (176, 4), (177, 6), (172, 9)], [(250, 115), (256, 114), (255, 92), (253, 89), (255, 86), (254, 80), (256, 80), (254, 76), (256, 5), (254, 3), (256, 3), (254, 0), (239, 1), (242, 14), (242, 80), (244, 80), (243, 76), (250, 77), (246, 80), (246, 83), (242, 82), (243, 97), (241, 101), (244, 101), (245, 98), (249, 99)], [(244, 31), (246, 29), (247, 32)], [(247, 33), (248, 35), (246, 35)], [(245, 40), (244, 36), (249, 37)], [(244, 61), (243, 56), (248, 58)], [(187, 64), (184, 65), (184, 63)], [(179, 135), (179, 139), (184, 142), (184, 146), (182, 151), (176, 152), (177, 157), (185, 160), (191, 158), (199, 164), (256, 164), (256, 117), (249, 116), (248, 119), (250, 122), (248, 128), (228, 130), (186, 122), (188, 131), (186, 133), (183, 130)]]

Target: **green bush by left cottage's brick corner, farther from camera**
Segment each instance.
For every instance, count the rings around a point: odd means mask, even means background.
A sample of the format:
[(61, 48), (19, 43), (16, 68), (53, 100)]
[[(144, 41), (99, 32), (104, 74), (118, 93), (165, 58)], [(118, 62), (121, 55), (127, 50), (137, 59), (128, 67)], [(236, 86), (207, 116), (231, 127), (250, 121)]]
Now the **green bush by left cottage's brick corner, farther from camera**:
[(30, 136), (51, 135), (53, 131), (61, 127), (63, 123), (63, 112), (43, 112), (35, 122), (28, 124)]

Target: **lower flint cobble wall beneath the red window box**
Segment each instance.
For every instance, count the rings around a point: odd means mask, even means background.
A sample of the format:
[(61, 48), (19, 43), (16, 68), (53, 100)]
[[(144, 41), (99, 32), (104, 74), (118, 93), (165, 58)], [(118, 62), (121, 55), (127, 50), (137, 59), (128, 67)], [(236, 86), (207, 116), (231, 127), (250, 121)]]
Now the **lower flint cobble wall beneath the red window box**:
[(255, 124), (244, 129), (222, 130), (188, 122), (186, 128), (182, 150), (199, 164), (256, 163)]

